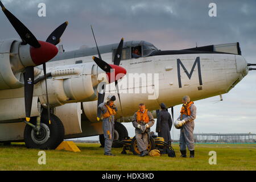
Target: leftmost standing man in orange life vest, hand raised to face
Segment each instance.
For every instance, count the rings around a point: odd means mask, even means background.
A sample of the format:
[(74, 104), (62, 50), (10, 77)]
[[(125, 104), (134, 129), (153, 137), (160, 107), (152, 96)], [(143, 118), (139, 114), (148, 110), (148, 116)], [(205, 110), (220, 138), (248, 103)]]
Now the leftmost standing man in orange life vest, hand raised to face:
[(114, 115), (117, 107), (114, 105), (115, 96), (108, 96), (107, 102), (101, 103), (98, 107), (101, 109), (102, 126), (104, 131), (105, 146), (104, 155), (115, 156), (111, 153), (111, 148), (114, 140)]

